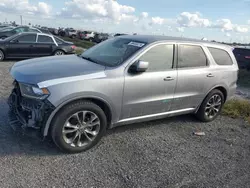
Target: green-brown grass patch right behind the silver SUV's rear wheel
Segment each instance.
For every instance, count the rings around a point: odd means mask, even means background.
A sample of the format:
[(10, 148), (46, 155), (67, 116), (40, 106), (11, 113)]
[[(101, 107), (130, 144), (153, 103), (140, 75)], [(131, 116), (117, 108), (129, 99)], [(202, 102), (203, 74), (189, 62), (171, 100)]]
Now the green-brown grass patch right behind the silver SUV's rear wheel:
[(222, 114), (232, 118), (244, 118), (250, 123), (250, 101), (243, 99), (230, 100), (224, 105)]

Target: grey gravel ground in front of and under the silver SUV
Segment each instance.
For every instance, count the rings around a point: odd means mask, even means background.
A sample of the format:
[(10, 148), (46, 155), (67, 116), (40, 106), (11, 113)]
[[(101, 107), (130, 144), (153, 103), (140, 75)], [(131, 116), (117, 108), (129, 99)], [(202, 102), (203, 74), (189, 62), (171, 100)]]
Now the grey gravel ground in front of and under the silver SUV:
[(6, 117), (12, 64), (0, 63), (0, 187), (250, 187), (250, 127), (239, 119), (181, 116), (123, 126), (75, 155), (14, 134)]

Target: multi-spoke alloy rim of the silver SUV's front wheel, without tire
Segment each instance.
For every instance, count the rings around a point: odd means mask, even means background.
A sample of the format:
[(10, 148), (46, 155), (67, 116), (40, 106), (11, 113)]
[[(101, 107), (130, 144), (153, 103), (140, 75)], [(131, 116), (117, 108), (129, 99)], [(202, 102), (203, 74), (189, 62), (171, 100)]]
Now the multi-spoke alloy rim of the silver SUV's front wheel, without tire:
[(65, 122), (62, 135), (71, 147), (82, 147), (94, 141), (100, 131), (100, 119), (91, 111), (80, 111)]

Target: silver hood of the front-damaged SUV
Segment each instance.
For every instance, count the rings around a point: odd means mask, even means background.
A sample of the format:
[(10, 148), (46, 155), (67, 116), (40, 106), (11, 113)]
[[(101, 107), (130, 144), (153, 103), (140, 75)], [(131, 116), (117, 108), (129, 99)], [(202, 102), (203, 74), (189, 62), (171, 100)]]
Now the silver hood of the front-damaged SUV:
[(11, 68), (12, 77), (18, 82), (38, 84), (58, 78), (103, 72), (101, 66), (76, 55), (35, 58), (17, 62)]

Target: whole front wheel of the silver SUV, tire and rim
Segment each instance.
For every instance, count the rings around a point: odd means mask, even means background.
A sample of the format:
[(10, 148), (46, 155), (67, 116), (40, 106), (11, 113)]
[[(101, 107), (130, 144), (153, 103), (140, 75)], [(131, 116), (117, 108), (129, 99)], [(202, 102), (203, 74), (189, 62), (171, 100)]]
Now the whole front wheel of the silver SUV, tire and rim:
[(64, 152), (78, 153), (95, 146), (105, 134), (103, 110), (89, 101), (78, 101), (56, 115), (51, 128), (54, 143)]

